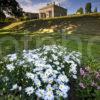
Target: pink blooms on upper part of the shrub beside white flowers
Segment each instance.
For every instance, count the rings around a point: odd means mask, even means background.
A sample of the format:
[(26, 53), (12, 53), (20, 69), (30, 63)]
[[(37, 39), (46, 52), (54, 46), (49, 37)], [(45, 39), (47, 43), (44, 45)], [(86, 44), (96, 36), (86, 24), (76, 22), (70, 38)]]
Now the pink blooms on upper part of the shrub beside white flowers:
[(100, 90), (100, 71), (93, 71), (90, 67), (80, 68), (79, 86), (82, 89)]

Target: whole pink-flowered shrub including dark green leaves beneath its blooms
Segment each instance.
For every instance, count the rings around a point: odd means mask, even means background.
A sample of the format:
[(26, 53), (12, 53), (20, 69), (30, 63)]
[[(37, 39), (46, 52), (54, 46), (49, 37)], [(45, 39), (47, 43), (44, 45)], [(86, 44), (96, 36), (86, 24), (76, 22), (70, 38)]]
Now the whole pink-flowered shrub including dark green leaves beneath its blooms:
[(94, 100), (98, 96), (97, 92), (100, 91), (100, 70), (93, 71), (90, 67), (80, 68), (77, 87), (77, 95)]

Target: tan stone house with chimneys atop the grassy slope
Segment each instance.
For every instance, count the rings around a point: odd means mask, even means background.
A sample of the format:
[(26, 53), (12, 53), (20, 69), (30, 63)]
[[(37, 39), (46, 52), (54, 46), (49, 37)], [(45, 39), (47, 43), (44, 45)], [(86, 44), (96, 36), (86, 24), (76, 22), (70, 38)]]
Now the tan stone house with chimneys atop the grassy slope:
[(47, 6), (39, 9), (39, 18), (53, 18), (66, 16), (67, 9), (61, 7), (60, 5), (47, 4)]

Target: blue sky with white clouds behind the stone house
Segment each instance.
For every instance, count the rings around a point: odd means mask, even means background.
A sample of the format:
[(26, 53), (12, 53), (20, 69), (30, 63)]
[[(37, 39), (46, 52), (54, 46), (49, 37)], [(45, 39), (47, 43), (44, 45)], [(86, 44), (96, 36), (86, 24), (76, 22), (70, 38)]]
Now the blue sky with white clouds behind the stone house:
[(100, 12), (100, 0), (17, 0), (26, 12), (39, 12), (39, 9), (47, 3), (56, 2), (60, 6), (68, 9), (68, 14), (74, 14), (80, 7), (85, 8), (87, 2), (92, 3), (92, 10), (97, 7)]

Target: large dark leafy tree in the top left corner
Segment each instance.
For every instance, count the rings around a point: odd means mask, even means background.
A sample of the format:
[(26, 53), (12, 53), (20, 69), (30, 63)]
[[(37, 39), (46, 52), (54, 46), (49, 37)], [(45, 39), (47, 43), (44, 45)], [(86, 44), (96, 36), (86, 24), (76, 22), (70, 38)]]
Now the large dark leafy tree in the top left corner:
[(16, 0), (0, 0), (0, 12), (4, 11), (12, 16), (21, 17), (23, 15), (22, 8)]

